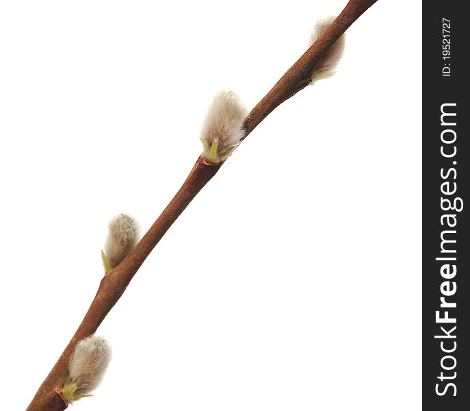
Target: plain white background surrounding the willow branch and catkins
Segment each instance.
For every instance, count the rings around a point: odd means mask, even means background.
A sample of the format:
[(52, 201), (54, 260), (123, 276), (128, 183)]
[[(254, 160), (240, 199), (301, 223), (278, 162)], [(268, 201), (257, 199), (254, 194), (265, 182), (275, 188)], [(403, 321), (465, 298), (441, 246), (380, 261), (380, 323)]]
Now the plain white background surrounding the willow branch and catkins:
[[(179, 188), (213, 95), (252, 108), (345, 3), (0, 3), (2, 410), (79, 325), (107, 221), (146, 229)], [(420, 286), (421, 4), (380, 0), (161, 240), (73, 410), (417, 410)]]

